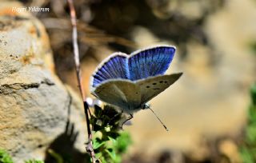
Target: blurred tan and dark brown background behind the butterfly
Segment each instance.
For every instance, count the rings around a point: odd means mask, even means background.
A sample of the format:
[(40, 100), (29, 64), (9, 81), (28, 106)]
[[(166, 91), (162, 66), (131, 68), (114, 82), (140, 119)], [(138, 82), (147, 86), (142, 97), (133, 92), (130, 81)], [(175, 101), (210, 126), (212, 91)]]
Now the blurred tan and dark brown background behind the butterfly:
[[(55, 71), (78, 90), (72, 28), (62, 0), (21, 1), (50, 7), (34, 13), (50, 35)], [(255, 0), (76, 0), (82, 76), (115, 51), (174, 45), (167, 74), (183, 72), (126, 126), (133, 145), (124, 162), (242, 162), (250, 87), (256, 81)], [(32, 13), (33, 14), (33, 13)]]

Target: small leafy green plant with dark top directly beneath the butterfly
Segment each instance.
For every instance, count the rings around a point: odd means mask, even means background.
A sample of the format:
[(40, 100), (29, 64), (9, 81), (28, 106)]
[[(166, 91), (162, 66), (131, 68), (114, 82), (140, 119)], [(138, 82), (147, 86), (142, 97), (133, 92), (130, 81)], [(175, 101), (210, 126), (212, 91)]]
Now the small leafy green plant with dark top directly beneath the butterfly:
[(94, 115), (90, 118), (93, 126), (93, 148), (96, 157), (102, 162), (119, 163), (122, 154), (132, 143), (130, 134), (120, 132), (123, 120), (126, 118), (110, 105), (104, 109), (94, 106)]

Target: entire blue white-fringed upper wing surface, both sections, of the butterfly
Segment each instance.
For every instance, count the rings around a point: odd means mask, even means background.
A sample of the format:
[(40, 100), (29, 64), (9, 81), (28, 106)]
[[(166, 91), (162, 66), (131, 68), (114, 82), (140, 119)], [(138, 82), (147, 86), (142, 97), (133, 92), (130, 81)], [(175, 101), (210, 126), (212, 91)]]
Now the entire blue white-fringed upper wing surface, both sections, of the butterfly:
[(164, 74), (174, 58), (173, 46), (154, 46), (135, 51), (127, 55), (114, 53), (107, 58), (94, 72), (92, 87), (110, 79), (129, 79), (137, 81)]

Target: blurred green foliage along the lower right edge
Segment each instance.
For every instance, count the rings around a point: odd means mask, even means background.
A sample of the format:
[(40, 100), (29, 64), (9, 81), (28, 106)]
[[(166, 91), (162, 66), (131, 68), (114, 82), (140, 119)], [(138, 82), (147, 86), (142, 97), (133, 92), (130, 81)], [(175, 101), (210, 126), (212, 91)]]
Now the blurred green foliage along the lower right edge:
[(248, 124), (246, 125), (246, 137), (240, 148), (242, 162), (256, 162), (256, 83), (251, 87), (251, 104), (248, 109)]

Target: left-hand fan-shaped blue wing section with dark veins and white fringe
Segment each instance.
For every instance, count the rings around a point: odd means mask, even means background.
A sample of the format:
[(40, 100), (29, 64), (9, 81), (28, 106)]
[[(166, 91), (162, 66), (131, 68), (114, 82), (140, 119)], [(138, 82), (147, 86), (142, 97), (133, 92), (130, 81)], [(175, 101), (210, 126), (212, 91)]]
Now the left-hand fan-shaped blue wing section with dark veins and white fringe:
[(127, 63), (127, 55), (122, 53), (115, 53), (106, 59), (98, 70), (93, 74), (92, 86), (96, 87), (102, 81), (106, 81), (111, 78), (123, 78), (128, 79), (129, 69)]

